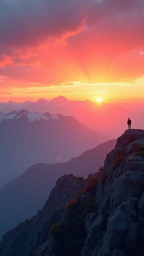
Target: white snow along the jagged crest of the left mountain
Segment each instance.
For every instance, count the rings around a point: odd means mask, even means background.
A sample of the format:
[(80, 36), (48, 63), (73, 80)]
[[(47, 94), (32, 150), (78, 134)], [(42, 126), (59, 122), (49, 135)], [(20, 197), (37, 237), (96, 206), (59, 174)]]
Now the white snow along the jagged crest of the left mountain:
[(50, 113), (41, 113), (41, 112), (29, 112), (27, 110), (15, 110), (10, 113), (2, 113), (0, 112), (0, 123), (3, 121), (8, 121), (8, 120), (15, 120), (17, 121), (18, 119), (22, 120), (27, 120), (28, 123), (32, 123), (33, 121), (51, 121), (53, 122), (54, 120), (59, 120), (59, 114), (57, 115), (51, 115)]

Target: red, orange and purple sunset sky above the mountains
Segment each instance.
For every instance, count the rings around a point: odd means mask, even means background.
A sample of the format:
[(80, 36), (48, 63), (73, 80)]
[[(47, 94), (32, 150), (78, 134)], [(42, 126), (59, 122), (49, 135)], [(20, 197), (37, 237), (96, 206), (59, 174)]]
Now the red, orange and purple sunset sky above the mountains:
[(143, 102), (143, 0), (0, 0), (0, 101)]

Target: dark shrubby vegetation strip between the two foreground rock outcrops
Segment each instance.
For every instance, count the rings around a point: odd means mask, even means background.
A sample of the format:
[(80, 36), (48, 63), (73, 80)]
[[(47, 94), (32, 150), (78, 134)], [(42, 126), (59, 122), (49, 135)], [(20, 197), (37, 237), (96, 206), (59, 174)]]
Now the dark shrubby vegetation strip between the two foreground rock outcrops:
[[(84, 189), (79, 191), (77, 199), (66, 205), (64, 220), (50, 228), (50, 235), (55, 239), (53, 250), (60, 256), (80, 256), (86, 239), (85, 217), (95, 210), (95, 193), (98, 175), (89, 178)], [(81, 195), (93, 192), (93, 197), (81, 202)]]

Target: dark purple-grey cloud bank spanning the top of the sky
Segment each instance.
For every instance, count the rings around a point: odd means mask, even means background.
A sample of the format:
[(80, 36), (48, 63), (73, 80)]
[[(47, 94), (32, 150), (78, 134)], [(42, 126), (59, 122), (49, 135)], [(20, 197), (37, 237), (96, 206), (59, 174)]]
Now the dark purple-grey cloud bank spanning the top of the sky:
[(143, 8), (142, 0), (1, 0), (0, 44), (30, 47), (47, 38), (60, 38), (77, 30), (85, 17), (89, 28), (107, 20), (113, 30), (121, 30), (123, 21), (135, 18), (141, 28)]

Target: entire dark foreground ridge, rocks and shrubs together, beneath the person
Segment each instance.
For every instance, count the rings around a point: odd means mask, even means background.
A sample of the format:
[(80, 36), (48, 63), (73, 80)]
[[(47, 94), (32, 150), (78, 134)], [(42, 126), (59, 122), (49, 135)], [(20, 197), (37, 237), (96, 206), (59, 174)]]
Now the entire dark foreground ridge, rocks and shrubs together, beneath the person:
[(100, 175), (59, 178), (43, 209), (3, 236), (0, 255), (143, 255), (143, 157), (144, 131), (125, 131)]

